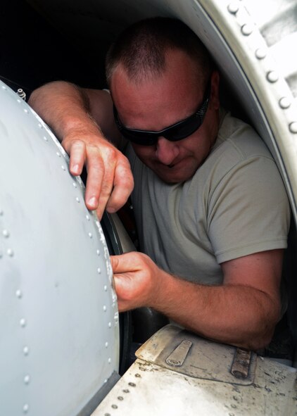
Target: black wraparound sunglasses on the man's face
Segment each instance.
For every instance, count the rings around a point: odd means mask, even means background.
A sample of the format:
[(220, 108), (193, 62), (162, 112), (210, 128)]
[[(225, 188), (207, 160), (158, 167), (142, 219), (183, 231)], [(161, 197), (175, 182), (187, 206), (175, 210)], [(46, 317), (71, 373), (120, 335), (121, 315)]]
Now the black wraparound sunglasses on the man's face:
[(118, 111), (113, 106), (113, 115), (115, 117), (115, 123), (120, 130), (121, 134), (125, 139), (132, 141), (135, 144), (141, 144), (143, 146), (152, 146), (158, 141), (158, 137), (165, 137), (170, 141), (177, 141), (186, 139), (186, 137), (191, 136), (198, 128), (202, 125), (206, 111), (208, 109), (208, 101), (210, 98), (211, 91), (211, 80), (208, 82), (206, 87), (206, 92), (203, 96), (203, 101), (194, 114), (190, 115), (184, 120), (176, 122), (174, 125), (171, 125), (160, 132), (151, 132), (147, 130), (134, 130), (128, 129), (118, 116)]

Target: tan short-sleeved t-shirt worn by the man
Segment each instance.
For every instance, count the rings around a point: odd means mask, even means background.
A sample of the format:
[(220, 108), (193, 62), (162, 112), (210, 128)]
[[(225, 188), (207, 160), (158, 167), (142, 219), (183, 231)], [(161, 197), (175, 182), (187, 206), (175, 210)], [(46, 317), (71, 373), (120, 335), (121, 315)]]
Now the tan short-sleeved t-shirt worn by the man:
[(220, 263), (286, 248), (290, 209), (270, 152), (246, 123), (223, 115), (217, 141), (194, 177), (165, 184), (127, 148), (141, 251), (163, 270), (222, 283)]

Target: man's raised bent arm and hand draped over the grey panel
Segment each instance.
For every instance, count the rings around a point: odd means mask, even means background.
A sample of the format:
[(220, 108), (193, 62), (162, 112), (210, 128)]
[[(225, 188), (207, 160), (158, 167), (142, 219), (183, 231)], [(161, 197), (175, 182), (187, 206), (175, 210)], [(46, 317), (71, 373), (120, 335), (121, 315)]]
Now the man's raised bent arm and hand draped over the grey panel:
[(35, 90), (29, 103), (70, 155), (70, 173), (80, 175), (87, 166), (87, 207), (98, 207), (101, 218), (104, 208), (115, 212), (124, 205), (133, 189), (133, 177), (127, 158), (110, 142), (117, 145), (120, 141), (110, 94), (52, 82)]

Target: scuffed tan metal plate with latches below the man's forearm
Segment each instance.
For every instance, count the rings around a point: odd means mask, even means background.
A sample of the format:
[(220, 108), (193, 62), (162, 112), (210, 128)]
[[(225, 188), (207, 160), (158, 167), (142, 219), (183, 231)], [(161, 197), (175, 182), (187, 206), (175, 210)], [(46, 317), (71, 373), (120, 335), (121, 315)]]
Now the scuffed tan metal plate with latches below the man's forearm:
[(246, 378), (235, 377), (231, 372), (235, 355), (236, 347), (199, 338), (173, 325), (160, 329), (136, 352), (141, 360), (198, 379), (242, 385), (253, 383), (255, 353), (251, 353)]

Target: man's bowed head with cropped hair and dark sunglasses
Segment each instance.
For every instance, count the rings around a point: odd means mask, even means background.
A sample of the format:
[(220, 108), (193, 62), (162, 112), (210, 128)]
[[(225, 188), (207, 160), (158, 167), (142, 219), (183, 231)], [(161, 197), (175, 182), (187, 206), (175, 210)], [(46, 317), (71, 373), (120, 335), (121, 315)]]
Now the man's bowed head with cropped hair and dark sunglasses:
[(196, 34), (175, 19), (136, 23), (110, 48), (106, 74), (120, 125), (160, 132), (186, 119), (149, 146), (137, 133), (132, 146), (165, 182), (193, 176), (215, 141), (219, 106), (218, 74)]

